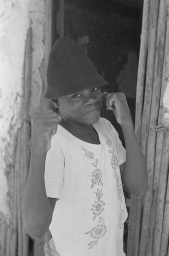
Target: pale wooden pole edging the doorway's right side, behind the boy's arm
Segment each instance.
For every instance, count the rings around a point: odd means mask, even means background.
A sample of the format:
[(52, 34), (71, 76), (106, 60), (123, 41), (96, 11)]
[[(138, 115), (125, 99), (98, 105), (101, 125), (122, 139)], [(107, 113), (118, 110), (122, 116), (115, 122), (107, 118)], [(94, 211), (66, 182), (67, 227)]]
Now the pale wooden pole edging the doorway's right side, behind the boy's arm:
[[(135, 111), (135, 133), (139, 143), (142, 138), (142, 106), (144, 101), (144, 84), (145, 84), (145, 69), (147, 61), (148, 48), (148, 30), (149, 30), (149, 8), (150, 0), (144, 1), (142, 36), (140, 42), (140, 54), (137, 74), (137, 89), (136, 89), (136, 111)], [(141, 216), (142, 201), (135, 196), (131, 196), (131, 208), (129, 216), (128, 230), (128, 245), (127, 255), (135, 256), (138, 251), (139, 244), (139, 229)], [(134, 225), (133, 225), (134, 223)]]

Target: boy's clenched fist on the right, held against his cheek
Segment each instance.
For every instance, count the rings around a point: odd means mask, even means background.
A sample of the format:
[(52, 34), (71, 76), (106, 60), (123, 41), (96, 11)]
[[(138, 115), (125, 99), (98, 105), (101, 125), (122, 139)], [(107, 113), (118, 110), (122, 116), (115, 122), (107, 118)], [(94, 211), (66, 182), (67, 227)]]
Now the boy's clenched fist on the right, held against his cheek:
[(106, 109), (112, 110), (120, 125), (133, 125), (132, 118), (124, 93), (103, 92), (106, 101)]

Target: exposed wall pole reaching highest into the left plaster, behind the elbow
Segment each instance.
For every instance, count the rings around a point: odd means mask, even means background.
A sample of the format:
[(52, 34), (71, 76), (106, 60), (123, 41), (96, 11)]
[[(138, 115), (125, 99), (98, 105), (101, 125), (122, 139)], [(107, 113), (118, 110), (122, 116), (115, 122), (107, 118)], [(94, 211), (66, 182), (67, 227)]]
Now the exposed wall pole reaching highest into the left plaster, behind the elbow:
[[(25, 47), (25, 65), (24, 65), (24, 77), (23, 77), (23, 126), (21, 129), (22, 141), (21, 141), (21, 164), (20, 169), (22, 170), (21, 179), (21, 200), (23, 199), (26, 180), (29, 171), (30, 163), (30, 140), (31, 140), (31, 120), (30, 120), (30, 100), (31, 100), (31, 63), (32, 63), (32, 30), (31, 28), (27, 32), (26, 47)], [(21, 201), (22, 209), (22, 201)], [(22, 218), (23, 222), (23, 218)], [(22, 224), (22, 255), (28, 256), (29, 254), (29, 236), (25, 232), (24, 223)]]

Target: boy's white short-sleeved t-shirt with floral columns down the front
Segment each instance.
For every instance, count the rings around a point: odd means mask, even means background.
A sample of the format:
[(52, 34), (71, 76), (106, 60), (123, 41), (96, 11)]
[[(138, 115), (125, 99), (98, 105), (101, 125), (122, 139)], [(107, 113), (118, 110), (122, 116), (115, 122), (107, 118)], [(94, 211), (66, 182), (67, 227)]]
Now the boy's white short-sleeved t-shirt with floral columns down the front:
[(61, 256), (125, 255), (127, 210), (119, 168), (125, 149), (108, 120), (100, 118), (93, 127), (98, 145), (58, 125), (46, 156), (46, 194), (60, 199), (49, 229)]

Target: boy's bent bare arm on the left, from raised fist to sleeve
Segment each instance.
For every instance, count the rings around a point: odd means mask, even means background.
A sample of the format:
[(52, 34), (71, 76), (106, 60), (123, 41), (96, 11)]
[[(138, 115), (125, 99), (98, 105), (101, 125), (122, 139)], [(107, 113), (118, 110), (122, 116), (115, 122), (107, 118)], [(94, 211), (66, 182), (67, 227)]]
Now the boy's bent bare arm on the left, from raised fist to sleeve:
[(23, 198), (25, 230), (34, 239), (41, 238), (50, 225), (57, 199), (48, 199), (44, 170), (51, 136), (57, 132), (60, 117), (52, 110), (35, 114), (32, 119), (30, 171)]

